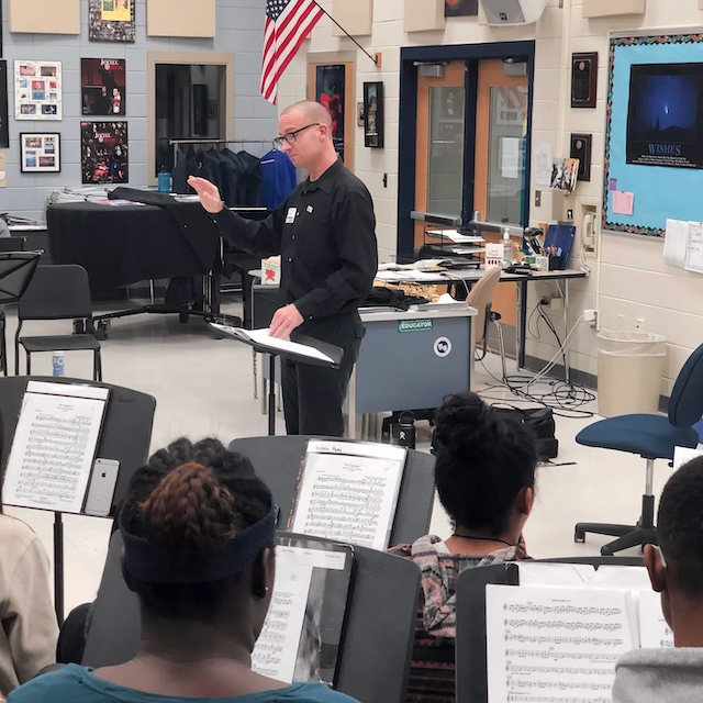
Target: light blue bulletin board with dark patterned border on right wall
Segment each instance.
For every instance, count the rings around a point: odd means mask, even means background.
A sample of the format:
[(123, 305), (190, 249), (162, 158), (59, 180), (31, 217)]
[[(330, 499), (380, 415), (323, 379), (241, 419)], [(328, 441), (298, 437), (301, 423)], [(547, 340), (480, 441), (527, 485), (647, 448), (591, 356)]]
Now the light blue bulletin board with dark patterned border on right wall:
[(611, 40), (603, 180), (603, 230), (701, 220), (702, 34)]

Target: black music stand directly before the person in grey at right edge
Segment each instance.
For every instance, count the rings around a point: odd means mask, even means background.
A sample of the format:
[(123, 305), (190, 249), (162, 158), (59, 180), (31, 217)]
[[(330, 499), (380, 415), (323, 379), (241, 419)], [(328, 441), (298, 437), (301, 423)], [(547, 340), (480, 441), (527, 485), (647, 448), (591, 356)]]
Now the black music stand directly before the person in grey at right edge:
[[(567, 557), (539, 559), (531, 563), (585, 563), (643, 566), (641, 557)], [(490, 563), (466, 569), (457, 580), (456, 702), (488, 703), (488, 658), (486, 654), (486, 587), (489, 583), (520, 585), (517, 562)]]

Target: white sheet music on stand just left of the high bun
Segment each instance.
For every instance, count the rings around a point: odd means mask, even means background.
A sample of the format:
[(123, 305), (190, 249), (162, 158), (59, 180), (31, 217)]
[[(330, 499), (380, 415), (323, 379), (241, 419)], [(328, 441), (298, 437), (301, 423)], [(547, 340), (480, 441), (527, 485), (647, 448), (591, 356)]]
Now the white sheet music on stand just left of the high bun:
[(406, 454), (404, 447), (310, 439), (290, 531), (387, 549)]

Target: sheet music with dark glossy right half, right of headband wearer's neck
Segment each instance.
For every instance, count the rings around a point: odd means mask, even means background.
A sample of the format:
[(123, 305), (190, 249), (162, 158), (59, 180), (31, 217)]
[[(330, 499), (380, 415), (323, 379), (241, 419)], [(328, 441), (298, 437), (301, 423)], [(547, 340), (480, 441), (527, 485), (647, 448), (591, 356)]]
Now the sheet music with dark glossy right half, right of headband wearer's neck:
[(254, 671), (334, 684), (353, 563), (349, 545), (276, 537), (276, 581), (252, 652)]

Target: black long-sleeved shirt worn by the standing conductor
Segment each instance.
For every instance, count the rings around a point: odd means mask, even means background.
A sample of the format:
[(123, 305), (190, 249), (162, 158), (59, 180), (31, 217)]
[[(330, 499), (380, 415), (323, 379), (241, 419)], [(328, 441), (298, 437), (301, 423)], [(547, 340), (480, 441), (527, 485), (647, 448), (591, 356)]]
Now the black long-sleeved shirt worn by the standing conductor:
[(304, 320), (352, 312), (371, 289), (378, 267), (373, 202), (341, 160), (300, 183), (264, 221), (226, 208), (211, 217), (234, 246), (281, 255), (282, 302), (294, 303)]

